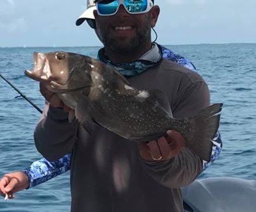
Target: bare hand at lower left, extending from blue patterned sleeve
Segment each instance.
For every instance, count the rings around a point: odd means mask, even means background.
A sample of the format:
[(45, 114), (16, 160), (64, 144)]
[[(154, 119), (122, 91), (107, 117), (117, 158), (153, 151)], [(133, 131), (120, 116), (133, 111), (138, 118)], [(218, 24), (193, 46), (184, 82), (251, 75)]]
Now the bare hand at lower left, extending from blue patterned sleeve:
[(14, 193), (29, 187), (29, 178), (22, 171), (7, 173), (0, 180), (0, 194), (8, 199), (14, 198)]

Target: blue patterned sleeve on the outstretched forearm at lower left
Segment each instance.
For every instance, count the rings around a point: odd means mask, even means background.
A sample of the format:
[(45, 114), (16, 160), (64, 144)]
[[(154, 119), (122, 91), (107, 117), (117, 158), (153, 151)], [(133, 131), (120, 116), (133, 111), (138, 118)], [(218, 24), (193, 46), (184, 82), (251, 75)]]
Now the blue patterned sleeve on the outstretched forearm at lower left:
[(66, 154), (63, 158), (53, 162), (42, 158), (39, 159), (39, 161), (32, 163), (28, 168), (22, 170), (30, 180), (30, 186), (27, 189), (42, 184), (43, 182), (70, 170), (70, 158), (71, 153)]

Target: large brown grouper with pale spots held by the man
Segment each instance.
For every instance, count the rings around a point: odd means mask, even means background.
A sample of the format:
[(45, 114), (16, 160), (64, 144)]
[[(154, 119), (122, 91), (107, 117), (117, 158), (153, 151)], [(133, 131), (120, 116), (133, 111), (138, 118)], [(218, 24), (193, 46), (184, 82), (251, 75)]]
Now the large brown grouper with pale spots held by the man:
[(161, 90), (139, 90), (112, 66), (82, 54), (56, 51), (34, 53), (34, 70), (25, 75), (54, 92), (88, 129), (91, 122), (134, 142), (148, 142), (176, 130), (186, 147), (210, 161), (212, 139), (219, 128), (222, 103), (195, 116), (172, 116)]

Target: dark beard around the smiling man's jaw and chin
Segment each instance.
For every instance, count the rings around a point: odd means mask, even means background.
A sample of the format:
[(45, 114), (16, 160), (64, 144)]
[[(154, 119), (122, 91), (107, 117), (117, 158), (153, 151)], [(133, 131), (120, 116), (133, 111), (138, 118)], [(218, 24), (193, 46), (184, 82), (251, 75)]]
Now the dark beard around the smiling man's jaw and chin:
[(119, 37), (118, 39), (110, 34), (110, 28), (99, 26), (97, 34), (99, 40), (105, 47), (117, 54), (133, 54), (134, 51), (146, 46), (151, 42), (151, 24), (147, 18), (143, 27), (136, 27), (135, 35), (132, 37)]

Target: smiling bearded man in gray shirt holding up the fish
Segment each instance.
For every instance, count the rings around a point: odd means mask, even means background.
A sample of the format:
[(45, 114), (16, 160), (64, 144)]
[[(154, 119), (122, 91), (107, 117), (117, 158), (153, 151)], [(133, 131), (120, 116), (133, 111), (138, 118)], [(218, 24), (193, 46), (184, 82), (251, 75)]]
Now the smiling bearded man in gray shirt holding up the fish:
[[(101, 61), (124, 73), (134, 87), (163, 90), (176, 118), (209, 106), (203, 79), (162, 59), (160, 46), (151, 43), (158, 6), (151, 0), (96, 4)], [(77, 121), (68, 123), (67, 106), (56, 96), (50, 99), (42, 84), (41, 93), (49, 104), (35, 128), (35, 146), (50, 161), (72, 152), (71, 211), (182, 211), (180, 188), (193, 182), (203, 166), (178, 132), (139, 145), (98, 125), (87, 134)]]

